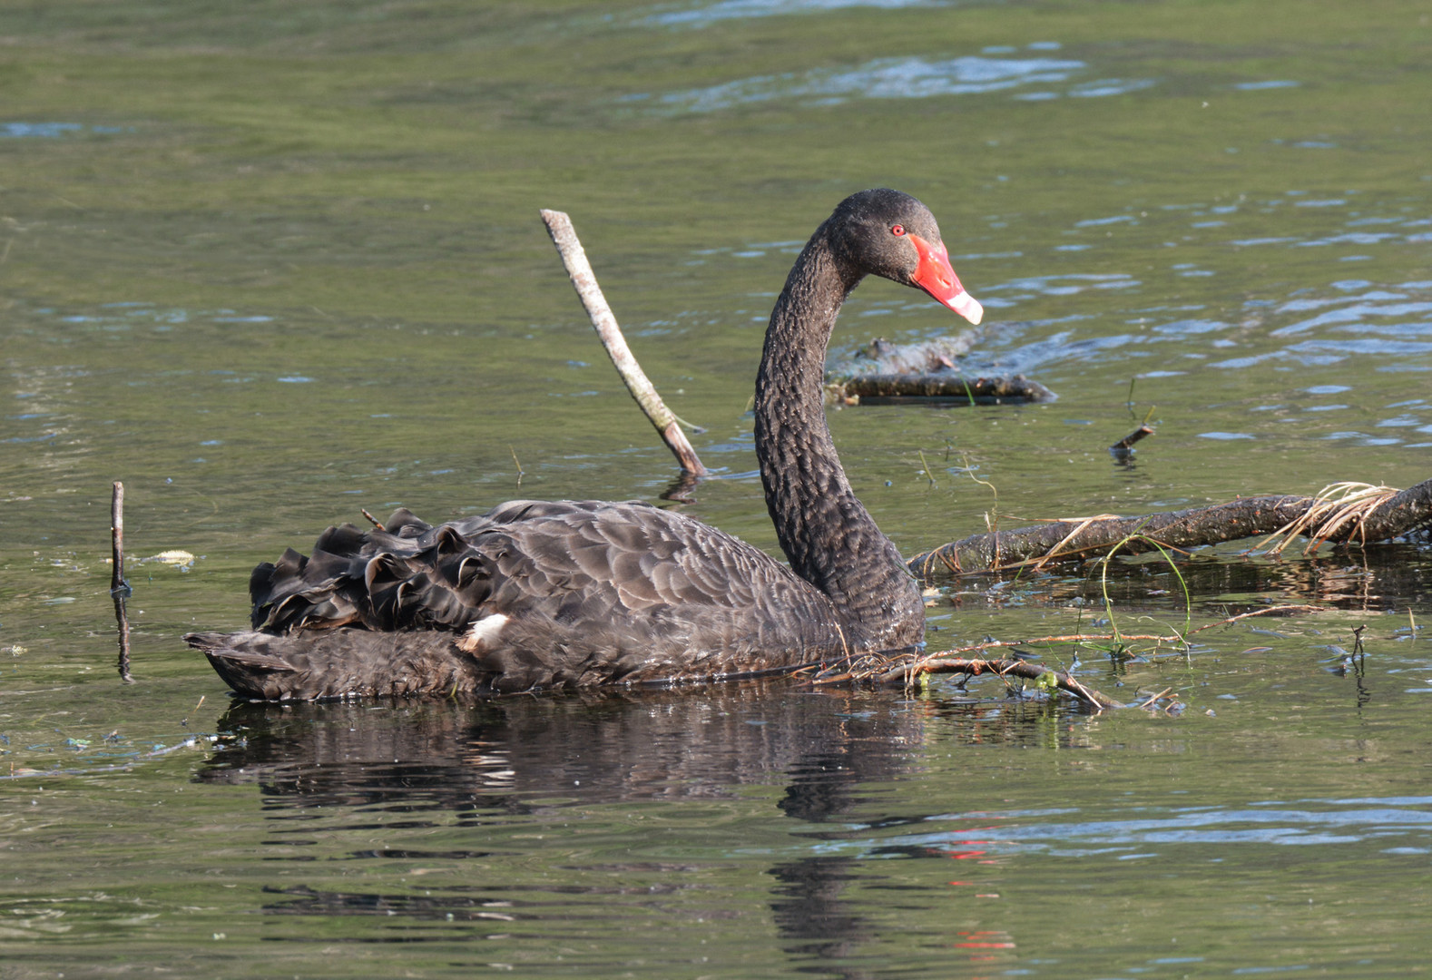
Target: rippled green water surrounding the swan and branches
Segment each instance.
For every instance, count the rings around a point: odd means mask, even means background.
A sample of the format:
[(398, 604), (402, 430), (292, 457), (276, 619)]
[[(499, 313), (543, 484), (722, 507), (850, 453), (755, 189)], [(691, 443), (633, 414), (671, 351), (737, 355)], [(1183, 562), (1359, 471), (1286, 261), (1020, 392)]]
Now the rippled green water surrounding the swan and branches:
[[(1083, 650), (1088, 683), (1173, 688), (1174, 715), (987, 681), (279, 709), (232, 705), (179, 636), (243, 623), (256, 562), (361, 507), (670, 484), (538, 208), (571, 213), (647, 373), (706, 427), (722, 479), (687, 510), (765, 547), (765, 317), (872, 185), (939, 218), (987, 308), (971, 370), (1060, 394), (832, 414), (906, 553), (987, 514), (1423, 480), (1429, 16), (0, 6), (0, 976), (1425, 971), (1416, 544), (1184, 562), (1194, 625), (1323, 612), (1187, 658)], [(876, 281), (836, 344), (954, 328)], [(193, 560), (155, 560), (176, 549)], [(957, 583), (929, 643), (1088, 628), (1085, 573)], [(1157, 563), (1108, 589), (1127, 632), (1187, 615)], [(1363, 625), (1365, 663), (1332, 671)]]

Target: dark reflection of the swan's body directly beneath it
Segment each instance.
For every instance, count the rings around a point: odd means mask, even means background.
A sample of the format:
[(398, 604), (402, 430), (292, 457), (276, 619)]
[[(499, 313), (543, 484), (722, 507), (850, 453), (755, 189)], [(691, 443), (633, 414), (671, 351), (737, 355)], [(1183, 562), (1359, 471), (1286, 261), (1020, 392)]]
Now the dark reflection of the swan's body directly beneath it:
[[(467, 705), (236, 703), (241, 744), (203, 781), (259, 782), (301, 805), (425, 801), (524, 811), (553, 794), (584, 802), (727, 797), (789, 784), (780, 810), (819, 821), (849, 789), (905, 772), (925, 719), (882, 693), (789, 692), (746, 681), (682, 691), (594, 689)], [(229, 739), (223, 739), (228, 742)], [(445, 821), (442, 821), (445, 822)]]

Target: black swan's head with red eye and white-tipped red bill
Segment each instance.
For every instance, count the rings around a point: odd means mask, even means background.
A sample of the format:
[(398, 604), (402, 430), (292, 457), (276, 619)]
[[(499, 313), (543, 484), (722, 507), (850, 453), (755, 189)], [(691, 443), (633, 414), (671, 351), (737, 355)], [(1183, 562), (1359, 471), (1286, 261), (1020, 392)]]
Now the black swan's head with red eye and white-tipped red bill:
[(949, 265), (935, 216), (908, 193), (852, 193), (831, 215), (828, 234), (836, 252), (862, 272), (924, 289), (971, 324), (984, 317)]

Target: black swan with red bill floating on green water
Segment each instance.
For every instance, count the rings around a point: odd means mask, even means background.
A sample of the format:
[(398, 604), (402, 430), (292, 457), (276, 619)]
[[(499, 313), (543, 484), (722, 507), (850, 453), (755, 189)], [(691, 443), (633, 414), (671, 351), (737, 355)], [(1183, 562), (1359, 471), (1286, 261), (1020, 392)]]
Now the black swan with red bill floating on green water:
[(909, 195), (855, 193), (811, 236), (756, 375), (756, 457), (789, 569), (639, 501), (514, 500), (440, 527), (398, 510), (259, 565), (252, 632), (185, 640), (271, 701), (715, 679), (919, 643), (919, 589), (855, 499), (822, 403), (831, 330), (868, 274), (982, 315)]

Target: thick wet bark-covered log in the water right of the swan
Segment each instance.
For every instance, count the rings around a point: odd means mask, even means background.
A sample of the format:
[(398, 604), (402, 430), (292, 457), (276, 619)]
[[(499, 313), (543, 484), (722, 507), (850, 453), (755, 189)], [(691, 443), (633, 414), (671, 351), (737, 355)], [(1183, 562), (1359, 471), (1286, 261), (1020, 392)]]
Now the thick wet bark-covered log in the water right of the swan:
[[(1316, 497), (1277, 494), (1242, 497), (1211, 507), (1191, 507), (1143, 517), (1100, 516), (1050, 522), (1037, 527), (971, 534), (916, 554), (908, 565), (916, 577), (929, 582), (1018, 565), (1103, 556), (1116, 544), (1118, 544), (1117, 554), (1151, 552), (1154, 542), (1167, 547), (1190, 549), (1272, 534), (1306, 514), (1315, 503)], [(1383, 501), (1360, 523), (1349, 522), (1329, 540), (1388, 540), (1409, 534), (1429, 523), (1432, 523), (1432, 480), (1423, 480)]]

